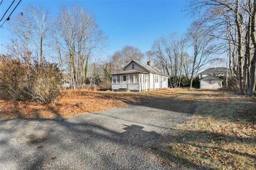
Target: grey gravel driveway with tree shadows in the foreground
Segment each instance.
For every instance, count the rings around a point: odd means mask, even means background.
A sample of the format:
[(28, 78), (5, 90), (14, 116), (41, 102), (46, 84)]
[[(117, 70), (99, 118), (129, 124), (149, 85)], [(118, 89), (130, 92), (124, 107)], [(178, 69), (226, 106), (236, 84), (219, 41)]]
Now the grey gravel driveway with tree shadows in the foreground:
[(68, 120), (0, 119), (0, 170), (172, 169), (152, 155), (196, 107), (159, 100)]

